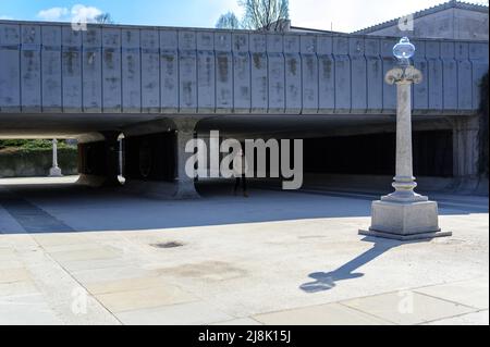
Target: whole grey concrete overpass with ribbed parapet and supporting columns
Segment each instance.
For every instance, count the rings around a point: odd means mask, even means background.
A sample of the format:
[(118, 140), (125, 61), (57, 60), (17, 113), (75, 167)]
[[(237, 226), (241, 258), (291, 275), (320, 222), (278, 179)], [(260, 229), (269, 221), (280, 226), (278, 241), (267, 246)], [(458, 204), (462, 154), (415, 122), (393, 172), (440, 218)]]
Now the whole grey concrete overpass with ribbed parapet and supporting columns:
[[(305, 138), (315, 173), (392, 174), (396, 40), (0, 21), (0, 138), (76, 137), (81, 179), (111, 184), (124, 135), (127, 185), (176, 197), (195, 194), (184, 145), (209, 129)], [(488, 41), (413, 42), (416, 174), (470, 181)]]

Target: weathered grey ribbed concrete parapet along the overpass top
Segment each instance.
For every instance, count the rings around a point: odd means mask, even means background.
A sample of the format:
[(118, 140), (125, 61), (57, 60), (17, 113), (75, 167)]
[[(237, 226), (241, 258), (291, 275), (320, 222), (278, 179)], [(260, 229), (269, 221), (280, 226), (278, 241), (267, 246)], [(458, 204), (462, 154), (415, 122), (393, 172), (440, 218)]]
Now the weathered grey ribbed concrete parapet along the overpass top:
[[(394, 38), (0, 22), (0, 112), (393, 113)], [(415, 113), (473, 113), (488, 42), (418, 40)]]

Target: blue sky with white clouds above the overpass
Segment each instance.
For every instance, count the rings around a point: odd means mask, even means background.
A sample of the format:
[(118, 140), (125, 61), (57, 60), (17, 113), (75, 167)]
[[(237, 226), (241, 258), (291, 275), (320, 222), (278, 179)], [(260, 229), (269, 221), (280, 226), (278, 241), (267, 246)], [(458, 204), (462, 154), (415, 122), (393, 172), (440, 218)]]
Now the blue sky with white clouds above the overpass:
[[(290, 12), (295, 26), (352, 32), (441, 2), (445, 1), (290, 0)], [(236, 0), (0, 0), (0, 18), (70, 21), (77, 4), (89, 14), (109, 12), (119, 24), (213, 27), (224, 12), (240, 15)]]

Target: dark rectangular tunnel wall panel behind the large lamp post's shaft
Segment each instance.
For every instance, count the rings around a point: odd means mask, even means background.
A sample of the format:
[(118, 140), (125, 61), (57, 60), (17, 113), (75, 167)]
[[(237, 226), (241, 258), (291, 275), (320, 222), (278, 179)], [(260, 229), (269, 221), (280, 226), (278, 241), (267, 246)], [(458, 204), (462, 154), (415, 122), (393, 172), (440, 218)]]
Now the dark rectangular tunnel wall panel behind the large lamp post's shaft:
[[(394, 133), (307, 138), (304, 171), (314, 174), (393, 175)], [(414, 174), (451, 177), (453, 138), (451, 131), (414, 132)]]

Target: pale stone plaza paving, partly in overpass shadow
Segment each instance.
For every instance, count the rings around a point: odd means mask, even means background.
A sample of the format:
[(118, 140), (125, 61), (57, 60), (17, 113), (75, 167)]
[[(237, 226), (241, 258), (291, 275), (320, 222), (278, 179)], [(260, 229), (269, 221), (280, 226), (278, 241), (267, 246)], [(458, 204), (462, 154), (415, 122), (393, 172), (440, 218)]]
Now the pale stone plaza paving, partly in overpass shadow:
[(432, 195), (453, 236), (399, 243), (357, 234), (378, 193), (73, 182), (0, 179), (0, 324), (489, 324), (488, 198)]

